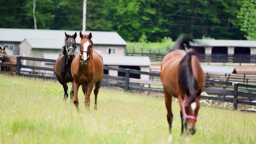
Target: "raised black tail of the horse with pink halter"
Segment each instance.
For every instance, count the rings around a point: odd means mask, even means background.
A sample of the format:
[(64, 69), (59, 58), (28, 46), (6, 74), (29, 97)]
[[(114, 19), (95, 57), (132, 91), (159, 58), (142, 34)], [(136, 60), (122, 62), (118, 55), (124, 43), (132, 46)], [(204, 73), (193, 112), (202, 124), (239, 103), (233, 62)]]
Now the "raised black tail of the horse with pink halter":
[(186, 44), (187, 48), (190, 48), (189, 42), (194, 42), (190, 37), (188, 36), (179, 36), (176, 40), (175, 44), (172, 46), (172, 50), (185, 50), (184, 44)]

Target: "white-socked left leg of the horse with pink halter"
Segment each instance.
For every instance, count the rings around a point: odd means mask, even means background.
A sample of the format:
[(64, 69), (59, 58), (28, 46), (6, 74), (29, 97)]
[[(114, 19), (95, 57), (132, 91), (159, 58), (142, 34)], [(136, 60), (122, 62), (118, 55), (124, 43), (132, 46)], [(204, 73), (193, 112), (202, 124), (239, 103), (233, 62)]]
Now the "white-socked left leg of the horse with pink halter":
[(169, 137), (168, 137), (168, 142), (172, 140), (172, 119), (173, 119), (173, 114), (172, 114), (172, 96), (167, 94), (166, 90), (164, 89), (164, 99), (165, 99), (165, 106), (167, 109), (167, 121), (169, 124)]

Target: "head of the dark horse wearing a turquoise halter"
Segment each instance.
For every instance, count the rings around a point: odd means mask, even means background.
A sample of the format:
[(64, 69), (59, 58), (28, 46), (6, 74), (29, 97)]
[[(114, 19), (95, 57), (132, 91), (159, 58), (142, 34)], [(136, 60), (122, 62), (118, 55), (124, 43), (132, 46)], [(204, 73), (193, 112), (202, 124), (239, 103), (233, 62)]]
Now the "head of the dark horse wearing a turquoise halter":
[(67, 54), (68, 60), (72, 60), (75, 57), (76, 52), (76, 32), (72, 36), (65, 32), (65, 36), (65, 45), (62, 47), (63, 54)]

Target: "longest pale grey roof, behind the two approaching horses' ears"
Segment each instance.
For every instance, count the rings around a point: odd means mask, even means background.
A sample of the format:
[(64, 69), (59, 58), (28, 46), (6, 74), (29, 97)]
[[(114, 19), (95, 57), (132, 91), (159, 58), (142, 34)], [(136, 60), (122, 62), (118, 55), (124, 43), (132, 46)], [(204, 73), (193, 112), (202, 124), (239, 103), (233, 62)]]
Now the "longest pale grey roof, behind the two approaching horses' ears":
[[(81, 38), (79, 36), (80, 31), (75, 30), (34, 30), (34, 29), (18, 29), (18, 28), (0, 28), (0, 41), (7, 42), (22, 42), (26, 39), (59, 39), (64, 41), (65, 33), (73, 35), (77, 34), (76, 42), (79, 43)], [(94, 44), (104, 45), (126, 45), (127, 43), (117, 32), (98, 32), (98, 31), (86, 31), (82, 34), (92, 33), (92, 41)]]

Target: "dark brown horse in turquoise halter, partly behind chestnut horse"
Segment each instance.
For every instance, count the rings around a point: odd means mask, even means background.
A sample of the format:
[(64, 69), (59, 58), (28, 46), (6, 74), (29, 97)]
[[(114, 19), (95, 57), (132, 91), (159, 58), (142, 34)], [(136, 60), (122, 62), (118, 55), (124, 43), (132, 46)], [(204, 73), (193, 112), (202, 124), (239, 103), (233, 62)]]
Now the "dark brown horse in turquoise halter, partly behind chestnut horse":
[[(74, 35), (70, 36), (65, 32), (65, 44), (62, 46), (62, 54), (57, 58), (54, 65), (54, 73), (62, 84), (64, 89), (64, 100), (68, 98), (68, 82), (73, 82), (73, 77), (71, 75), (71, 63), (75, 57), (76, 52), (76, 32)], [(72, 100), (74, 96), (73, 87), (70, 91), (70, 99)]]

